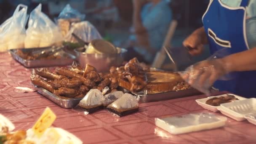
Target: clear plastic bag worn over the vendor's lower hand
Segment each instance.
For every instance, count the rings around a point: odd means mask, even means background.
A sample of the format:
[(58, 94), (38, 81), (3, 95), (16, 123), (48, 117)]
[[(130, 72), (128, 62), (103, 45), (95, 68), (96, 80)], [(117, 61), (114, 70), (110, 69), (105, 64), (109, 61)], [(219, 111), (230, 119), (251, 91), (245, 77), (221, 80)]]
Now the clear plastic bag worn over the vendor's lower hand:
[[(179, 72), (181, 77), (198, 91), (211, 95), (211, 87), (213, 85), (212, 75), (220, 76), (216, 80), (232, 80), (237, 77), (237, 73), (227, 72), (224, 61), (221, 58), (232, 54), (230, 48), (222, 48), (216, 51), (211, 57), (205, 61), (200, 61), (189, 66), (184, 72)], [(204, 74), (204, 76), (202, 76)], [(208, 77), (205, 77), (207, 74)], [(204, 77), (204, 81), (202, 81)]]

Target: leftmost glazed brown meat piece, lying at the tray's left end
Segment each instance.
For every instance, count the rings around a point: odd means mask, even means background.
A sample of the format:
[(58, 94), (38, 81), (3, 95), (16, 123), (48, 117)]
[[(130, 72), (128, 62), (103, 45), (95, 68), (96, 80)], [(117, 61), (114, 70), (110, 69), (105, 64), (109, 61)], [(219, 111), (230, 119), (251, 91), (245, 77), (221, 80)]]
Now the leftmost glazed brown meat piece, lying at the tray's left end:
[(34, 85), (42, 87), (47, 91), (50, 91), (51, 93), (53, 93), (53, 87), (51, 86), (51, 84), (43, 80), (39, 75), (36, 75), (35, 73), (32, 72), (30, 79)]

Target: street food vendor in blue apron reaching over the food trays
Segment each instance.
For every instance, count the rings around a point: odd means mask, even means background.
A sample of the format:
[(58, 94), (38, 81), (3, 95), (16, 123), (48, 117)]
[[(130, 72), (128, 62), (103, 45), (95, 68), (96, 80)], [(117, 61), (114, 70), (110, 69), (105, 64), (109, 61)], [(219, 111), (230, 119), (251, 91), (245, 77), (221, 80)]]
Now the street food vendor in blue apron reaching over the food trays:
[[(203, 27), (195, 30), (183, 45), (193, 56), (209, 44), (211, 54), (227, 49), (228, 55), (201, 61), (182, 75), (189, 84), (197, 83), (240, 96), (256, 96), (256, 1), (210, 0), (203, 15)], [(191, 68), (191, 67), (190, 67)], [(230, 79), (220, 79), (232, 72)]]

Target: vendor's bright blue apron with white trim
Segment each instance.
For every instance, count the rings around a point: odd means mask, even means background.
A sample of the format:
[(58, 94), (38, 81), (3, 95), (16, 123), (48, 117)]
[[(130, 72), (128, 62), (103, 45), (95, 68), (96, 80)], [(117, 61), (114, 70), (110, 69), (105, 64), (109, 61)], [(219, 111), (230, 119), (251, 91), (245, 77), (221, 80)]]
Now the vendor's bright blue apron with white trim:
[[(236, 8), (224, 5), (220, 0), (210, 2), (203, 16), (203, 24), (211, 54), (222, 48), (227, 48), (229, 54), (248, 50), (245, 31), (247, 5), (248, 0), (242, 0), (240, 7)], [(256, 96), (255, 83), (256, 71), (235, 72), (232, 80), (217, 80), (213, 86), (220, 91), (249, 98)]]

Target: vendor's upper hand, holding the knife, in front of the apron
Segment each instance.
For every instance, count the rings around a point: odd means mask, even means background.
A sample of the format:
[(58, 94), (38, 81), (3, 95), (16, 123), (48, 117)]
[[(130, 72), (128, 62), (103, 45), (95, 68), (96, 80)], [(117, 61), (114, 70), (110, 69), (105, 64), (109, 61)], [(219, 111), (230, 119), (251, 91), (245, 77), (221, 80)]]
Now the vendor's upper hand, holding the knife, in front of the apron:
[(189, 35), (189, 37), (187, 37), (186, 40), (184, 40), (183, 45), (184, 47), (192, 48), (189, 50), (189, 53), (192, 56), (199, 55), (204, 50), (201, 35), (198, 33), (192, 33), (191, 35)]

